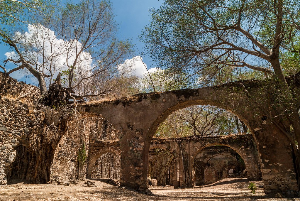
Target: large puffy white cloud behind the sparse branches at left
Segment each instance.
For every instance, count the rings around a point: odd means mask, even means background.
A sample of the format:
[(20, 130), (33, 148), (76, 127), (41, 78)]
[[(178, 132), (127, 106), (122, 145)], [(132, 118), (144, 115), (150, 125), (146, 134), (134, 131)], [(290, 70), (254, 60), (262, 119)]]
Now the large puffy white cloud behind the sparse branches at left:
[[(82, 49), (79, 41), (59, 39), (54, 31), (41, 24), (28, 25), (25, 33), (16, 32), (14, 40), (24, 44), (26, 51), (22, 52), (23, 56), (35, 63), (40, 71), (52, 74), (52, 79), (59, 71), (67, 70), (67, 64), (72, 65), (77, 56), (76, 52)], [(6, 52), (5, 55), (15, 60), (19, 58), (15, 52)], [(77, 71), (81, 70), (85, 72), (85, 75), (90, 73), (93, 67), (90, 53), (81, 52), (77, 61), (79, 61), (75, 66)]]

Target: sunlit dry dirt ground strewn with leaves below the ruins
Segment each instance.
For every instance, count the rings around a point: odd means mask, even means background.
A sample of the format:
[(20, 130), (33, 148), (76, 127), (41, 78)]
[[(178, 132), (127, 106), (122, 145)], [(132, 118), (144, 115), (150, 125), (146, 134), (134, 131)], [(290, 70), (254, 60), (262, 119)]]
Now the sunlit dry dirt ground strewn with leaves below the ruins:
[[(223, 179), (214, 184), (198, 186), (187, 189), (174, 189), (171, 186), (159, 187), (149, 186), (149, 190), (154, 195), (145, 195), (135, 191), (122, 189), (97, 180), (96, 187), (88, 187), (85, 181), (79, 184), (70, 184), (70, 186), (57, 184), (8, 184), (0, 186), (0, 201), (102, 201), (102, 200), (299, 200), (298, 198), (268, 198), (263, 193), (263, 188), (257, 188), (256, 193), (252, 195), (247, 188), (249, 181), (247, 179)], [(261, 181), (253, 182), (257, 186)]]

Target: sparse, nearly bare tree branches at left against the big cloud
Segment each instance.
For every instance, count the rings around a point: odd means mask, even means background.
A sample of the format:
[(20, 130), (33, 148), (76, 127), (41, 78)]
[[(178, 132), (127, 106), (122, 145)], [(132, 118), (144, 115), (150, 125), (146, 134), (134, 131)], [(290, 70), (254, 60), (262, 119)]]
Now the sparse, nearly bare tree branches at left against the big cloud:
[(47, 91), (58, 72), (67, 89), (67, 99), (106, 95), (113, 91), (119, 77), (117, 66), (131, 52), (131, 44), (116, 37), (117, 25), (107, 1), (80, 1), (48, 12), (46, 18), (28, 25), (28, 32), (16, 32), (12, 39), (3, 35), (13, 47), (18, 66), (7, 72), (26, 68), (37, 79), (41, 94)]

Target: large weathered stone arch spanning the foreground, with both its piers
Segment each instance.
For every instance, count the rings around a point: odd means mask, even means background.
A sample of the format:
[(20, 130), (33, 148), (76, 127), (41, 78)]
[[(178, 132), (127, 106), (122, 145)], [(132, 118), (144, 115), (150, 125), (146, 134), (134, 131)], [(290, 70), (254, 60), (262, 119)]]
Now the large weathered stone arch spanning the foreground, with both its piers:
[[(249, 128), (259, 151), (265, 193), (298, 190), (289, 139), (277, 127), (278, 123), (274, 123), (274, 119), (271, 121), (265, 118), (265, 111), (260, 111), (251, 98), (243, 98), (257, 97), (260, 88), (259, 81), (245, 81), (199, 89), (139, 94), (83, 104), (78, 109), (83, 113), (102, 114), (121, 131), (121, 185), (137, 190), (147, 188), (150, 143), (156, 129), (167, 116), (191, 105), (210, 104), (232, 112)], [(265, 101), (260, 104), (269, 105), (269, 100)], [(270, 108), (267, 112), (271, 115), (275, 113), (271, 107), (266, 108)]]

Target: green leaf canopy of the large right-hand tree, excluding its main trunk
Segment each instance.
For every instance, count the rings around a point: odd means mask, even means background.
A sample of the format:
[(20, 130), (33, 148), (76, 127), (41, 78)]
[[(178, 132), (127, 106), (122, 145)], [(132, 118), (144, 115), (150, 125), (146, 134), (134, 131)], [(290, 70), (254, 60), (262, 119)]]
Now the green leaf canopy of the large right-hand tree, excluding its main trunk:
[[(277, 57), (286, 73), (294, 73), (299, 70), (299, 29), (295, 24), (300, 19), (300, 2), (282, 2), (285, 37)], [(263, 4), (260, 0), (166, 0), (159, 9), (151, 10), (152, 20), (140, 40), (156, 66), (173, 74), (197, 77), (208, 85), (262, 79), (264, 72), (273, 70), (271, 60), (256, 53), (272, 52), (279, 7), (278, 1)]]

